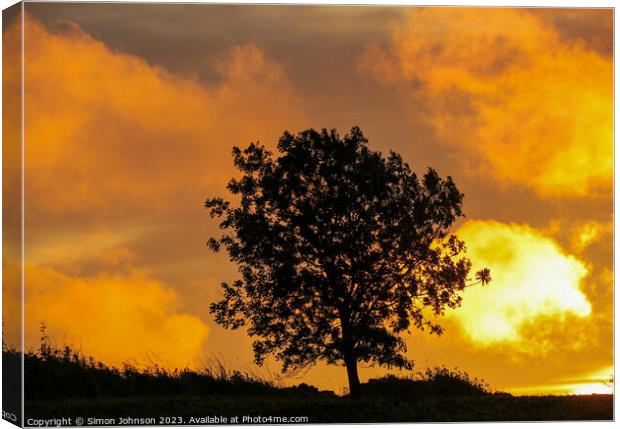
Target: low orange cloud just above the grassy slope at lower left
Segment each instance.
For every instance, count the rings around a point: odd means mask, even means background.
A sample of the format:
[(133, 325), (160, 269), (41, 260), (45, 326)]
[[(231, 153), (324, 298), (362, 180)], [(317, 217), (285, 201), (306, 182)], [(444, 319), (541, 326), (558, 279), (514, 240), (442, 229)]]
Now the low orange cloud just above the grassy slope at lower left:
[(93, 277), (28, 266), (26, 343), (38, 344), (40, 323), (60, 346), (72, 345), (111, 365), (198, 364), (208, 328), (179, 310), (179, 298), (144, 270)]

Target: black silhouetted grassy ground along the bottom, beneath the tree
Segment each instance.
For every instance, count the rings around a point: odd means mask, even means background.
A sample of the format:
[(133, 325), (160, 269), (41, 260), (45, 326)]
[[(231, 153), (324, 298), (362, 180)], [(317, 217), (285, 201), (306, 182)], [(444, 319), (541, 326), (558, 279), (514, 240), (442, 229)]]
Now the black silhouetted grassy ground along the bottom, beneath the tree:
[[(15, 356), (3, 350), (3, 359)], [(118, 423), (128, 416), (175, 417), (183, 424), (201, 423), (190, 419), (205, 416), (238, 416), (239, 423), (244, 416), (299, 416), (308, 423), (613, 419), (612, 395), (513, 397), (447, 368), (369, 380), (363, 397), (352, 400), (307, 384), (283, 387), (221, 364), (199, 372), (114, 368), (46, 341), (25, 354), (24, 365), (26, 418), (82, 416)]]

